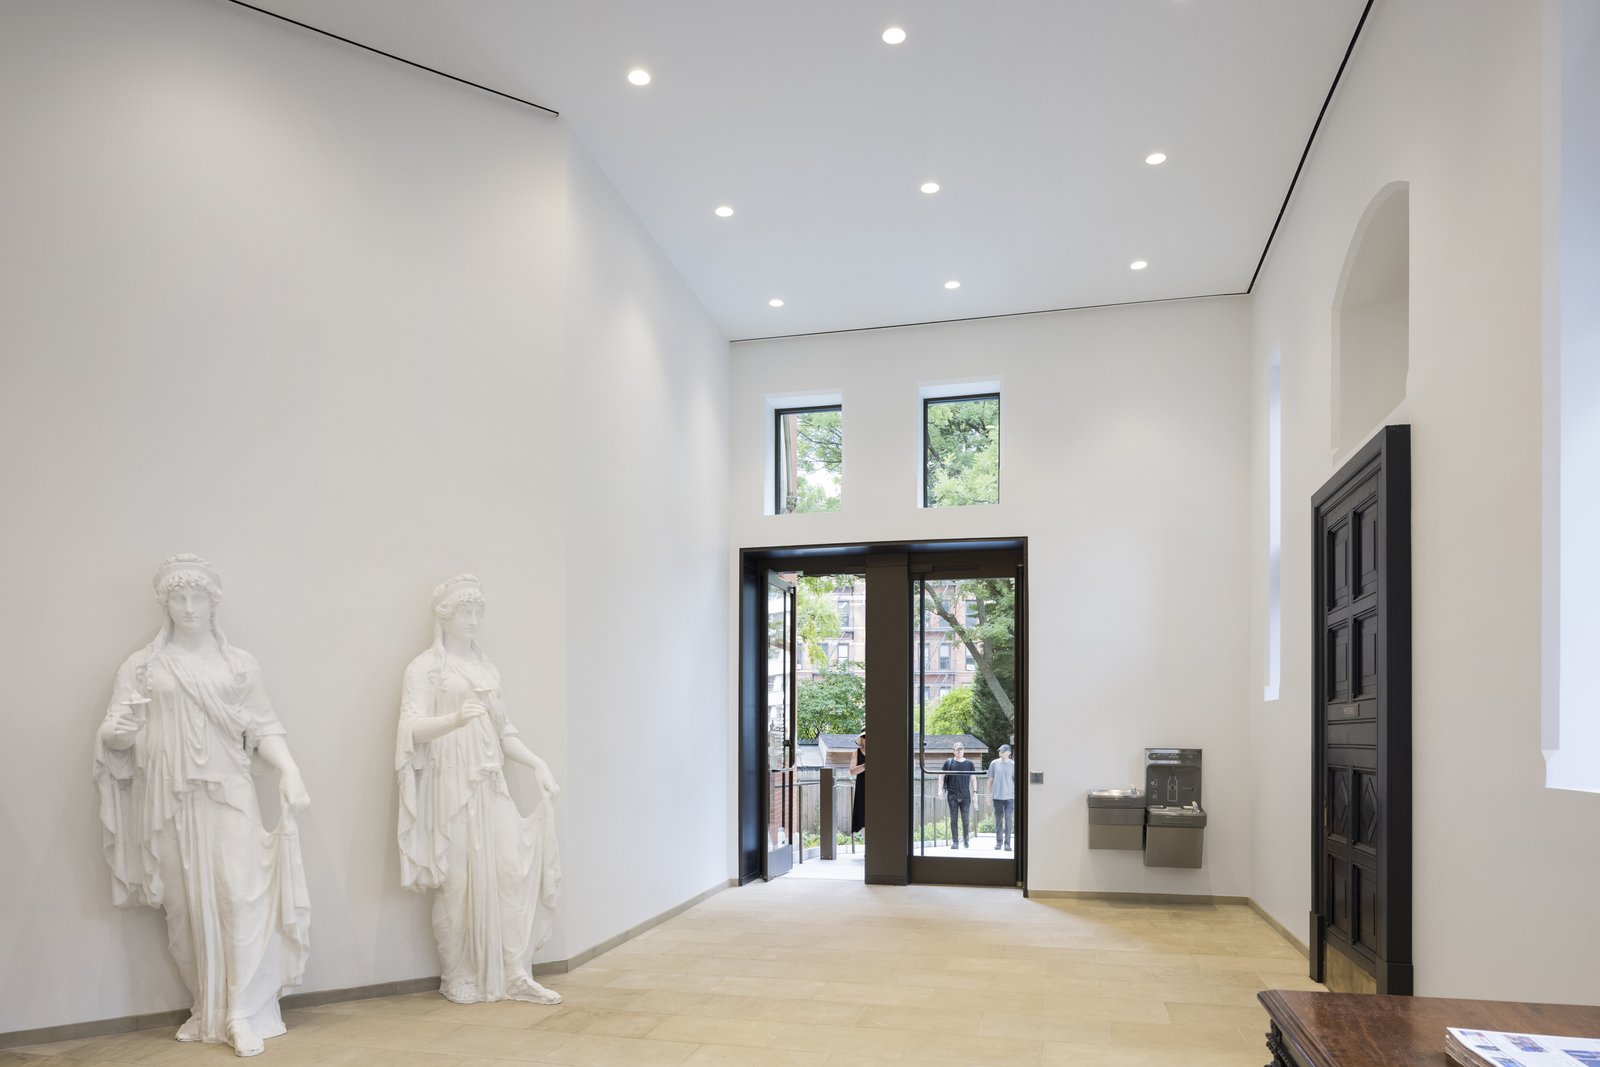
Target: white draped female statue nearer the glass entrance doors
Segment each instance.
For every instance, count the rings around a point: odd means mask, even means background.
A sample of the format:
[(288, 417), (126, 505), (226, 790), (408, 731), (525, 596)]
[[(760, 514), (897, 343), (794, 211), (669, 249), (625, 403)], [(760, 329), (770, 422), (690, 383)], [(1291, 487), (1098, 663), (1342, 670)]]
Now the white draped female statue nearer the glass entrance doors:
[[(550, 936), (562, 880), (560, 787), (506, 718), (499, 670), (475, 640), (482, 619), (478, 579), (451, 577), (434, 590), (434, 645), (405, 670), (395, 745), (400, 881), (434, 891), (438, 992), (456, 1003), (558, 1005), (530, 963)], [(506, 789), (507, 760), (533, 769), (533, 814)]]

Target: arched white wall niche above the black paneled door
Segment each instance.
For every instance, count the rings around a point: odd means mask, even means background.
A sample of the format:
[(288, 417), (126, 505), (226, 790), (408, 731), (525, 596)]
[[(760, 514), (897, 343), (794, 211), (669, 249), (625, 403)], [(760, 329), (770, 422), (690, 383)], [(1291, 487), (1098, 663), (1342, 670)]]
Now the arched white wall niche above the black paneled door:
[(1333, 453), (1373, 435), (1405, 400), (1411, 334), (1411, 187), (1366, 205), (1333, 298)]

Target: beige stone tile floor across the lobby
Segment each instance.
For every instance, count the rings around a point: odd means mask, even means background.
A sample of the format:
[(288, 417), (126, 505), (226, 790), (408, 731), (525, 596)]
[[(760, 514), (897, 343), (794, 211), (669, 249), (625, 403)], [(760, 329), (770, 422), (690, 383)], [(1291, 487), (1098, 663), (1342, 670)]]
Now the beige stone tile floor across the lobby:
[[(414, 993), (291, 1009), (261, 1067), (1259, 1067), (1256, 992), (1320, 989), (1304, 976), (1243, 905), (784, 878), (544, 979), (558, 1008)], [(170, 1029), (0, 1051), (0, 1067), (232, 1059)]]

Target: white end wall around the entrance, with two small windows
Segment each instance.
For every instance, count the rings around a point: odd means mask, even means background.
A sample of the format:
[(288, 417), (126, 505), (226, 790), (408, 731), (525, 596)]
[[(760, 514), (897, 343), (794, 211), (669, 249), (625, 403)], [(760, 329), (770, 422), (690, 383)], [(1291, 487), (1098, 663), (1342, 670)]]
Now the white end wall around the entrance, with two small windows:
[[(1250, 891), (1246, 350), (1240, 299), (734, 344), (734, 547), (1029, 539), (1032, 889)], [(1000, 504), (918, 509), (918, 387), (960, 379), (1002, 384)], [(786, 394), (843, 397), (837, 514), (763, 515)], [(1205, 749), (1202, 870), (1088, 849), (1149, 745)]]

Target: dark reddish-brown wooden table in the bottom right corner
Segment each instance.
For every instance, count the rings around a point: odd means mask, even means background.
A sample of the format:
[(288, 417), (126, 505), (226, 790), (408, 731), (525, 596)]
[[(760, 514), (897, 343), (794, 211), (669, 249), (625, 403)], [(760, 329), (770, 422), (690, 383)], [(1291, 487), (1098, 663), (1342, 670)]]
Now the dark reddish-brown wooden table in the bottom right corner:
[(1600, 1038), (1600, 1008), (1506, 1000), (1302, 993), (1256, 995), (1272, 1016), (1269, 1067), (1446, 1067), (1445, 1029)]

